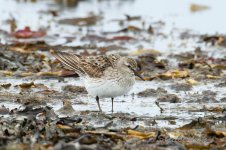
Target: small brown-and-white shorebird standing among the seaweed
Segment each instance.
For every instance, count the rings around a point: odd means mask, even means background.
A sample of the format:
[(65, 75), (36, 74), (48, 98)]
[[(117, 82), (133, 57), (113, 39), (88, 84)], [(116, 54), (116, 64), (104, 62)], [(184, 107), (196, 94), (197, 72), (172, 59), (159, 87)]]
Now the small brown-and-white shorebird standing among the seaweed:
[(66, 69), (75, 71), (83, 80), (85, 88), (91, 96), (96, 97), (99, 111), (99, 98), (111, 98), (112, 112), (114, 98), (127, 94), (135, 83), (137, 63), (134, 59), (117, 54), (108, 56), (80, 56), (65, 52), (54, 52)]

